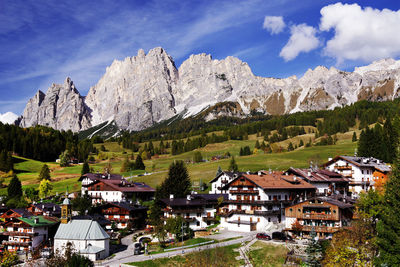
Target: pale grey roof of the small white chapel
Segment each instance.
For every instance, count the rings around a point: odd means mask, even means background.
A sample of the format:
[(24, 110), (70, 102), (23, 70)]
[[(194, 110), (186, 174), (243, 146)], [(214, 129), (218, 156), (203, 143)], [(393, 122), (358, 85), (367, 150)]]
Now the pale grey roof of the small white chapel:
[(93, 220), (72, 220), (60, 224), (54, 239), (67, 240), (102, 240), (110, 236)]

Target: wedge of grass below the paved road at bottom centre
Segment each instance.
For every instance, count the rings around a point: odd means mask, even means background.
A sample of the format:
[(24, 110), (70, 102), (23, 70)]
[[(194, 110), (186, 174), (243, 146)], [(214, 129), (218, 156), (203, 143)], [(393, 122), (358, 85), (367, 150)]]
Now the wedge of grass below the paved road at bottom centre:
[(141, 262), (131, 262), (129, 265), (138, 267), (204, 267), (204, 266), (241, 266), (243, 262), (235, 260), (239, 256), (239, 252), (234, 249), (238, 248), (240, 244), (230, 245), (226, 247), (219, 247), (215, 249), (203, 250), (200, 252), (193, 252), (186, 256), (175, 256), (172, 258), (161, 258), (156, 260), (148, 260)]

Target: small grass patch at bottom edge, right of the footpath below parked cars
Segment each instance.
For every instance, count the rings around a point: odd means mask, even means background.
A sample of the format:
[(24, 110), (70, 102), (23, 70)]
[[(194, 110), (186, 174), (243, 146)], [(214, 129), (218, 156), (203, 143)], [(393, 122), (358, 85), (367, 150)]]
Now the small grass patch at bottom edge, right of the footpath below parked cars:
[(284, 246), (257, 241), (250, 247), (249, 260), (254, 267), (275, 267), (285, 263), (287, 249)]

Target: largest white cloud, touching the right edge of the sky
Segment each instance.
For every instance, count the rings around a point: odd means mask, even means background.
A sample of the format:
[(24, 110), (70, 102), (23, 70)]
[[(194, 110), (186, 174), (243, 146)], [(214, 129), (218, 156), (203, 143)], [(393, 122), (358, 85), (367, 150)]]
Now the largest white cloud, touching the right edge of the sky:
[(362, 9), (358, 4), (337, 3), (321, 9), (321, 31), (335, 31), (324, 53), (344, 60), (370, 62), (400, 55), (400, 10)]

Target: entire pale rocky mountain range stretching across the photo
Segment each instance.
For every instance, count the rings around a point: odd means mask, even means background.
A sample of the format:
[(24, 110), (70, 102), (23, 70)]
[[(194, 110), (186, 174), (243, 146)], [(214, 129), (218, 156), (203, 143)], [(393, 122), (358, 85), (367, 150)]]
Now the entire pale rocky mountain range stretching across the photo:
[(114, 120), (122, 129), (141, 130), (177, 114), (201, 113), (212, 120), (253, 111), (277, 115), (333, 109), (363, 99), (389, 100), (399, 96), (399, 84), (400, 61), (393, 59), (354, 72), (318, 66), (300, 79), (275, 79), (255, 76), (238, 58), (213, 60), (206, 54), (190, 56), (178, 70), (158, 47), (115, 60), (85, 99), (69, 78), (46, 94), (39, 91), (29, 100), (20, 125), (79, 131)]

